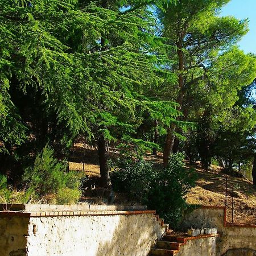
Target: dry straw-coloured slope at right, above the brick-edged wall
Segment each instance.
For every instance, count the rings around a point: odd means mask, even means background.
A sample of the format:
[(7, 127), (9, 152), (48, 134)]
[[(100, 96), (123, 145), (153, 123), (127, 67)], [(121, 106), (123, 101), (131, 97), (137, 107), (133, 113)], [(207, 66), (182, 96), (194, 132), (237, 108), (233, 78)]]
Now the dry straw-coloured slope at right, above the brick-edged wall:
[[(221, 168), (212, 166), (206, 172), (200, 164), (193, 166), (198, 179), (196, 187), (185, 197), (189, 204), (225, 206), (226, 175)], [(256, 189), (245, 178), (228, 175), (227, 221), (232, 222), (232, 196), (234, 198), (233, 222), (237, 224), (256, 224)], [(234, 187), (234, 193), (233, 193)]]

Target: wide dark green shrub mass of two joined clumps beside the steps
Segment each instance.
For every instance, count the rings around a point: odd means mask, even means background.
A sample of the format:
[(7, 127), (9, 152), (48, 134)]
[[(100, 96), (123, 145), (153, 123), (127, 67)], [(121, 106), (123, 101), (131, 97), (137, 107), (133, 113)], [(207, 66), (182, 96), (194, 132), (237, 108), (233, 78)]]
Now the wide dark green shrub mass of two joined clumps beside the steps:
[(171, 155), (166, 169), (154, 170), (145, 161), (121, 161), (111, 173), (115, 191), (126, 192), (177, 228), (187, 207), (184, 196), (195, 185), (193, 170), (184, 167), (184, 155)]

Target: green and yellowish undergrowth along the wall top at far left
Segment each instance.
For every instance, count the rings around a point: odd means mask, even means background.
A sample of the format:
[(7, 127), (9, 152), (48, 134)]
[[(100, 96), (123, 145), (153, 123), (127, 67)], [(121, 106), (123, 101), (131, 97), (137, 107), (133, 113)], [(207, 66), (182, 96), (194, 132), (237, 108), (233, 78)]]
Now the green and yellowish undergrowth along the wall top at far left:
[(8, 186), (7, 177), (0, 175), (0, 201), (9, 204), (77, 203), (81, 196), (82, 177), (76, 172), (67, 172), (66, 163), (54, 158), (53, 153), (47, 144), (36, 156), (34, 166), (24, 172), (22, 189)]

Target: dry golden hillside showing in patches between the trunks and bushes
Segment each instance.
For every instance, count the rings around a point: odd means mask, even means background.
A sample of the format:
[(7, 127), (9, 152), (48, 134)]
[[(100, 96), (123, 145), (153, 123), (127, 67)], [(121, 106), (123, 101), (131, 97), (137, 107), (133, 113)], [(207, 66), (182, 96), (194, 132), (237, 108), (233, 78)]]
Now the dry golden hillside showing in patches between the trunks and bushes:
[[(83, 144), (78, 143), (73, 148), (71, 160), (69, 163), (71, 170), (82, 171), (82, 159), (85, 159), (85, 174), (90, 177), (100, 176), (100, 168), (98, 166), (97, 151), (92, 148), (86, 148), (84, 151)], [(118, 156), (117, 152), (112, 151), (113, 156)], [(162, 164), (161, 156), (146, 157), (146, 160), (154, 162), (155, 165)], [(189, 204), (201, 204), (212, 206), (225, 206), (225, 179), (226, 175), (221, 172), (221, 168), (212, 166), (211, 170), (205, 172), (197, 163), (195, 168), (198, 180), (196, 187), (192, 188), (186, 196)], [(256, 189), (253, 184), (242, 178), (232, 177), (228, 175), (228, 221), (232, 220), (232, 187), (234, 191), (234, 222), (243, 224), (256, 224)]]

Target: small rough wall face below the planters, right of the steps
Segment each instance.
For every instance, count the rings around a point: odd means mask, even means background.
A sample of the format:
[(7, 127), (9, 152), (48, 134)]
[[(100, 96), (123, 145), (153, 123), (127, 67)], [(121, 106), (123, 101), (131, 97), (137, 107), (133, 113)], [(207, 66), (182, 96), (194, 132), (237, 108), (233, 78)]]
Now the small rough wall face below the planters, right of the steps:
[(187, 241), (175, 256), (216, 256), (218, 237), (201, 238)]

